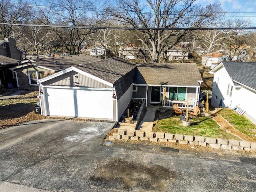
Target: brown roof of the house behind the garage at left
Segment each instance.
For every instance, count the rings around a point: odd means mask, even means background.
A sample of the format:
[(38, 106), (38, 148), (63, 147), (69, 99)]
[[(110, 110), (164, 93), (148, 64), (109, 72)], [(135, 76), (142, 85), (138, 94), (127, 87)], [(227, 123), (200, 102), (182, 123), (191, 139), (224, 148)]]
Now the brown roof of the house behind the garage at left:
[(33, 59), (37, 65), (44, 66), (53, 70), (61, 70), (70, 66), (76, 66), (79, 64), (86, 64), (89, 62), (95, 62), (102, 59), (88, 56), (88, 55), (71, 55), (64, 57), (49, 57), (42, 59)]

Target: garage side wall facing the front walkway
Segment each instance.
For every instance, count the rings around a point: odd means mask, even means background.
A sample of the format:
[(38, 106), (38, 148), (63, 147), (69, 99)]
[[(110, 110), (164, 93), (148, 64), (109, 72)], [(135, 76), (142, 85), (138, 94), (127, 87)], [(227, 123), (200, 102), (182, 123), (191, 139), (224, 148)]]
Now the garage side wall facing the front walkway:
[(132, 85), (126, 90), (126, 92), (122, 95), (122, 97), (117, 101), (118, 120), (124, 113), (124, 110), (128, 106), (131, 99), (132, 99)]

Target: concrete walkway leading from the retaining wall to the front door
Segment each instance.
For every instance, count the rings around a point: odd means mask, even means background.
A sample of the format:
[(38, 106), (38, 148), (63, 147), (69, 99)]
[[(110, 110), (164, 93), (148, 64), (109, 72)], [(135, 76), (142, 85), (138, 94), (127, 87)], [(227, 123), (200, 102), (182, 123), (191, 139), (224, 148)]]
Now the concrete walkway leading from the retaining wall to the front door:
[(153, 106), (149, 105), (147, 106), (147, 112), (143, 118), (143, 120), (140, 122), (138, 129), (143, 131), (152, 131), (154, 119), (156, 116), (156, 110), (159, 108), (159, 106)]

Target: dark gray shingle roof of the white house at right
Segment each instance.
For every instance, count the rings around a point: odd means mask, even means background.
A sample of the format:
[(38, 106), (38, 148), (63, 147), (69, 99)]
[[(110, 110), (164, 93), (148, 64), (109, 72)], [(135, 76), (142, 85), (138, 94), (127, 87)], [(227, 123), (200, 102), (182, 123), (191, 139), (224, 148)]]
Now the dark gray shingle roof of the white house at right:
[(232, 80), (256, 89), (255, 62), (222, 62)]

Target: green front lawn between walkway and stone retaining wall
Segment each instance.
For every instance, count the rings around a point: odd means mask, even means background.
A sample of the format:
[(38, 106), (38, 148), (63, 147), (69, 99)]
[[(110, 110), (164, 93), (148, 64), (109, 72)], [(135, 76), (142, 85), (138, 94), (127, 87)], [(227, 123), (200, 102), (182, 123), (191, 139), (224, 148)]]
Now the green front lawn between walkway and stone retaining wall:
[(182, 126), (180, 116), (174, 116), (172, 114), (172, 110), (166, 110), (164, 114), (157, 111), (155, 119), (158, 120), (158, 122), (153, 127), (153, 132), (200, 135), (205, 137), (239, 140), (238, 137), (220, 128), (220, 126), (218, 126), (218, 124), (212, 118), (193, 117), (191, 125), (184, 127)]

